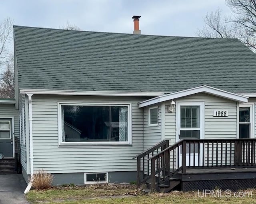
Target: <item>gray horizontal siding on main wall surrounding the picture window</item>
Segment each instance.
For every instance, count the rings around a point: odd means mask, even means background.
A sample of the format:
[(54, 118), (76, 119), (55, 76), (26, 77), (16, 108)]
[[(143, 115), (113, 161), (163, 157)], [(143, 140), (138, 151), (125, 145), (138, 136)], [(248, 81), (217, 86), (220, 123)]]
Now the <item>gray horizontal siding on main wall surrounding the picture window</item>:
[[(143, 151), (143, 109), (145, 97), (32, 96), (34, 171), (50, 173), (136, 171), (136, 159)], [(57, 102), (100, 102), (132, 104), (132, 146), (58, 146)]]

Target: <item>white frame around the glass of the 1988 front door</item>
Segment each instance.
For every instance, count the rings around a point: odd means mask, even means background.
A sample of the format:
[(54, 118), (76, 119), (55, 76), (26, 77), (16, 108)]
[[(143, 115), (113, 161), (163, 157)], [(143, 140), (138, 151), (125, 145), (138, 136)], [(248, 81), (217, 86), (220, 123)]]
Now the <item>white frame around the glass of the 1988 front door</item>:
[(193, 130), (200, 130), (200, 139), (204, 139), (204, 102), (176, 102), (176, 141), (179, 141), (180, 129), (191, 130), (191, 128), (180, 128), (180, 106), (199, 106), (199, 123), (200, 128), (193, 128)]

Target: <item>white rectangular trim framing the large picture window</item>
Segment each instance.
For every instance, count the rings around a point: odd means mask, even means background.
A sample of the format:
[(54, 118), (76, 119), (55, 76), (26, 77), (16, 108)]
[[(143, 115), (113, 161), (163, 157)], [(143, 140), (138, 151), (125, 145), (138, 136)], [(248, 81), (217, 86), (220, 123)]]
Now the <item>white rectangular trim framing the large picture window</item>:
[[(132, 104), (130, 103), (89, 103), (89, 102), (58, 102), (58, 144), (59, 146), (122, 146), (132, 145)], [(62, 142), (62, 111), (61, 106), (127, 106), (128, 107), (128, 141), (118, 142)]]

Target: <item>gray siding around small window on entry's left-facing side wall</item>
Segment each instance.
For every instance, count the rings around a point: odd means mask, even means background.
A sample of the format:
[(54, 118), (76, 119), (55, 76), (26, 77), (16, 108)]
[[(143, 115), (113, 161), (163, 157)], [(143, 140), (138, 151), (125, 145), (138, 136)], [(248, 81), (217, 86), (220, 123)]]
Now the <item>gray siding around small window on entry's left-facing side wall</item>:
[(161, 105), (158, 105), (158, 126), (148, 126), (148, 108), (144, 108), (144, 150), (156, 145), (162, 140)]

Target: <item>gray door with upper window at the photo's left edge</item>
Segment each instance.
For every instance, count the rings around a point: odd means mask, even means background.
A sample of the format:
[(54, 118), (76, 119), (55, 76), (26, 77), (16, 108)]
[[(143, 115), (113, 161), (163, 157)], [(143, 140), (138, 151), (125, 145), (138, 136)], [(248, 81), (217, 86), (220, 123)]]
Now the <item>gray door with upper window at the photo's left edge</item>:
[(0, 119), (0, 153), (13, 157), (12, 119)]

